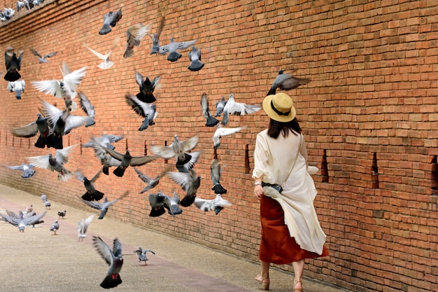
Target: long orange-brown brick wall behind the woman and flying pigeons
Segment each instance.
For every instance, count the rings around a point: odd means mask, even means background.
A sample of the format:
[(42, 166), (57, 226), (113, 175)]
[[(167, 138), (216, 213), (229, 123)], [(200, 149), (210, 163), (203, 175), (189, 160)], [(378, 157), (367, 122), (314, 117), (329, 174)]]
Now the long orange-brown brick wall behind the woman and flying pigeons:
[[(20, 73), (27, 82), (22, 100), (6, 91), (6, 81), (1, 82), (1, 164), (19, 164), (26, 156), (53, 152), (34, 148), (35, 138), (14, 138), (10, 127), (36, 119), (38, 98), (62, 104), (35, 90), (31, 81), (61, 78), (58, 66), (64, 61), (71, 69), (88, 66), (78, 89), (97, 111), (97, 124), (73, 130), (65, 145), (84, 143), (104, 132), (125, 134), (116, 150), (123, 152), (127, 144), (133, 155), (141, 155), (145, 147), (170, 144), (174, 134), (185, 140), (197, 133), (195, 150), (202, 156), (195, 169), (203, 177), (198, 195), (212, 198), (209, 164), (215, 129), (204, 127), (202, 92), (209, 95), (211, 108), (232, 92), (238, 102), (259, 104), (278, 69), (295, 72), (311, 78), (309, 85), (289, 93), (306, 134), (309, 161), (321, 168), (314, 176), (319, 192), (316, 209), (331, 252), (330, 257), (309, 260), (305, 274), (353, 291), (438, 291), (437, 193), (432, 189), (438, 185), (435, 1), (45, 3), (31, 13), (20, 11), (0, 27), (0, 48), (25, 50)], [(171, 36), (176, 41), (197, 39), (206, 64), (201, 71), (188, 71), (187, 51), (175, 63), (150, 56), (147, 36), (134, 57), (123, 59), (127, 27), (150, 23), (154, 31), (159, 4), (167, 15), (162, 44)], [(12, 4), (0, 1), (3, 5)], [(122, 20), (113, 32), (99, 36), (104, 13), (120, 7)], [(102, 71), (82, 43), (105, 53), (116, 37), (120, 43), (111, 57), (115, 65)], [(30, 48), (59, 53), (48, 64), (38, 64)], [(126, 92), (138, 90), (134, 70), (143, 76), (162, 76), (162, 88), (156, 91), (156, 125), (145, 132), (137, 130), (142, 119), (124, 99)], [(4, 73), (4, 68), (0, 71)], [(232, 207), (218, 216), (189, 207), (176, 218), (167, 214), (150, 218), (147, 194), (138, 193), (143, 183), (128, 169), (122, 179), (103, 175), (96, 183), (111, 199), (131, 192), (108, 216), (257, 260), (259, 211), (245, 155), (248, 147), (252, 170), (255, 135), (267, 126), (267, 117), (262, 111), (232, 116), (229, 126), (239, 125), (248, 128), (222, 138), (218, 148), (218, 158), (227, 165), (222, 186)], [(78, 146), (66, 166), (92, 176), (100, 164), (90, 148)], [(164, 166), (157, 160), (140, 169), (153, 176)], [(76, 197), (84, 192), (76, 179), (59, 182), (55, 173), (37, 169), (34, 178), (23, 181), (2, 168), (0, 182), (89, 210)], [(160, 188), (183, 195), (169, 179), (163, 179)], [(292, 270), (290, 265), (281, 268)]]

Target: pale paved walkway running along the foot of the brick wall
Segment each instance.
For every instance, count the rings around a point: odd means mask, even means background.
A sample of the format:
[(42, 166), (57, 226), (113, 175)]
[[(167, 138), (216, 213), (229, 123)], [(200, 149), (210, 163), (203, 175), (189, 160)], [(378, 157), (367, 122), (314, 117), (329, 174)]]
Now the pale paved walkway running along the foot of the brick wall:
[[(111, 248), (115, 237), (122, 242), (123, 282), (111, 291), (261, 291), (254, 280), (260, 272), (258, 263), (112, 218), (96, 216), (89, 237), (78, 242), (77, 222), (97, 212), (50, 202), (45, 222), (24, 233), (0, 221), (0, 291), (104, 291), (99, 284), (108, 266), (92, 247), (92, 235)], [(44, 211), (40, 197), (0, 185), (0, 212), (17, 213), (30, 204), (37, 213)], [(64, 209), (66, 217), (59, 219), (59, 231), (52, 235), (50, 225), (58, 219), (57, 211)], [(156, 253), (147, 253), (148, 265), (139, 263), (133, 252), (139, 246)], [(270, 277), (271, 291), (292, 291), (292, 274), (271, 269)], [(306, 292), (347, 291), (312, 279), (304, 279), (304, 288)]]

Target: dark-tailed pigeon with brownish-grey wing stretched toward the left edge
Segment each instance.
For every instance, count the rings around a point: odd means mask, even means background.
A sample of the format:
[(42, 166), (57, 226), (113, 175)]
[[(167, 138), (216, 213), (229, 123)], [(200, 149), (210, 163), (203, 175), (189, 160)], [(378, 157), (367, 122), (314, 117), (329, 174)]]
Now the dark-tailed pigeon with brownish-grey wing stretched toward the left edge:
[(48, 119), (43, 117), (40, 113), (37, 113), (38, 117), (35, 122), (24, 125), (23, 127), (15, 127), (12, 129), (12, 133), (16, 137), (30, 138), (36, 136), (39, 132), (38, 139), (35, 142), (35, 147), (45, 148), (45, 146), (52, 146), (48, 144), (46, 139), (50, 135), (50, 128)]

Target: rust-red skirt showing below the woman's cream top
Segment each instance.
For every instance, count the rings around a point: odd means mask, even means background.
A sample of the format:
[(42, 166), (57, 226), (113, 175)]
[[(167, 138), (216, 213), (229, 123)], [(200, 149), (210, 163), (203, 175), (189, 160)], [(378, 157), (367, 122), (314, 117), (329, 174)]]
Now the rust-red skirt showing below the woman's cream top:
[(288, 226), (284, 223), (281, 205), (271, 197), (263, 196), (260, 200), (260, 220), (262, 221), (260, 260), (285, 265), (306, 258), (328, 256), (329, 251), (325, 246), (321, 255), (299, 247), (295, 238), (290, 237)]

